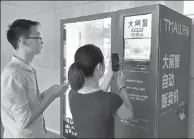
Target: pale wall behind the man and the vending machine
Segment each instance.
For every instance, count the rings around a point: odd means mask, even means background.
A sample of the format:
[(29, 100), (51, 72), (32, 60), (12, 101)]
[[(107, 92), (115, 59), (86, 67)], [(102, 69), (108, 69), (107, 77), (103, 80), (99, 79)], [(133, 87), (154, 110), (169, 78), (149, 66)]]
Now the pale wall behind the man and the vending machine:
[[(6, 39), (7, 25), (17, 18), (36, 20), (42, 24), (44, 49), (42, 54), (35, 58), (33, 64), (38, 73), (39, 88), (43, 91), (52, 84), (60, 83), (60, 19), (159, 2), (183, 13), (183, 2), (181, 1), (3, 1), (1, 2), (1, 70), (13, 53), (13, 49)], [(192, 52), (194, 55), (194, 49)], [(194, 77), (194, 73), (192, 77)], [(59, 133), (59, 99), (48, 107), (44, 115), (47, 128)]]

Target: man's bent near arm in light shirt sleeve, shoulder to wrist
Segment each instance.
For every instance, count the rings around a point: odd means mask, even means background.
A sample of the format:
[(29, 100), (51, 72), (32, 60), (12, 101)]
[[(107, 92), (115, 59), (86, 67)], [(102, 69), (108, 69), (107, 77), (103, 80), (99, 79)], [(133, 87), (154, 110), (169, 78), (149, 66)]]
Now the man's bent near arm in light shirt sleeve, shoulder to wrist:
[[(30, 109), (29, 100), (24, 85), (24, 79), (21, 79), (17, 73), (11, 73), (3, 80), (3, 105), (6, 107), (15, 119), (20, 128), (29, 127), (51, 104), (54, 100), (53, 93), (47, 95), (41, 103)], [(33, 92), (31, 92), (33, 93)]]

